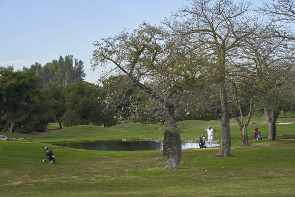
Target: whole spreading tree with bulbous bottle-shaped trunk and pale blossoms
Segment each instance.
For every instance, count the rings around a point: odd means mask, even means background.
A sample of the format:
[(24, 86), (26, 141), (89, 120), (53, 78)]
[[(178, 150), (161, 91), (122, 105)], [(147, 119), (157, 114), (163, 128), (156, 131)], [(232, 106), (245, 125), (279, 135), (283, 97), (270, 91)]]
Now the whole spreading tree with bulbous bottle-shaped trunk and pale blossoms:
[[(187, 107), (184, 98), (190, 92), (189, 84), (198, 78), (198, 60), (185, 54), (172, 39), (173, 35), (162, 28), (143, 23), (133, 33), (122, 31), (118, 36), (94, 42), (96, 49), (91, 59), (93, 69), (113, 66), (103, 76), (120, 77), (119, 83), (104, 81), (104, 87), (109, 85), (112, 92), (102, 101), (110, 110), (120, 112), (115, 118), (121, 123), (135, 122), (139, 114), (158, 113), (158, 118), (165, 122), (165, 169), (179, 168), (181, 140), (177, 117)], [(132, 94), (134, 90), (136, 94)]]

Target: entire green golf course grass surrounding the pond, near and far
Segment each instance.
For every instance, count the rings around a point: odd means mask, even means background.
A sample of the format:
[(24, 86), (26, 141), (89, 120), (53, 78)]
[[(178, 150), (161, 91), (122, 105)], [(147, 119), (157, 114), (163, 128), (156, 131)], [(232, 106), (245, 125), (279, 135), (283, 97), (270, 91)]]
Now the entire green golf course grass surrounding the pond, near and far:
[[(239, 128), (231, 121), (233, 157), (216, 158), (219, 147), (183, 149), (179, 170), (163, 170), (161, 150), (95, 151), (52, 145), (54, 142), (162, 138), (161, 125), (128, 127), (76, 126), (43, 134), (0, 132), (31, 141), (0, 141), (0, 197), (294, 197), (295, 118), (278, 119), (278, 140), (265, 140), (264, 119), (248, 126), (247, 146), (240, 145)], [(282, 124), (289, 123), (289, 124)], [(206, 134), (215, 140), (220, 121), (181, 121), (181, 140)], [(259, 126), (263, 140), (253, 140)], [(252, 137), (252, 138), (251, 138)], [(42, 147), (53, 150), (56, 164), (42, 163)]]

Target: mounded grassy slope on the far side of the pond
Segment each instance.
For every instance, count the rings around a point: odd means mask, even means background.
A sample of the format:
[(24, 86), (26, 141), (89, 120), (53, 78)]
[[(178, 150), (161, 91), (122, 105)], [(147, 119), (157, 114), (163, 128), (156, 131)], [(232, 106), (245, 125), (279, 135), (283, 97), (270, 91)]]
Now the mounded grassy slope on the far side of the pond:
[[(252, 118), (248, 126), (249, 139), (253, 137), (253, 129), (258, 126), (262, 131), (264, 139), (268, 135), (268, 126), (264, 119)], [(295, 118), (282, 118), (278, 123), (295, 122)], [(220, 138), (220, 120), (212, 121), (181, 121), (178, 122), (180, 128), (180, 136), (182, 140), (188, 138), (198, 139), (202, 134), (206, 134), (204, 129), (210, 125), (215, 132), (215, 139)], [(295, 124), (277, 125), (278, 138), (294, 138), (295, 137)], [(7, 133), (0, 132), (0, 135), (8, 135), (9, 137), (31, 137), (34, 141), (38, 142), (61, 142), (61, 141), (83, 141), (83, 140), (110, 140), (122, 138), (162, 138), (163, 128), (162, 125), (144, 125), (140, 123), (131, 124), (128, 127), (115, 126), (110, 128), (97, 127), (92, 125), (82, 125), (62, 130), (47, 132), (38, 135), (29, 135), (22, 133)], [(240, 131), (234, 119), (231, 119), (231, 137), (238, 139)]]

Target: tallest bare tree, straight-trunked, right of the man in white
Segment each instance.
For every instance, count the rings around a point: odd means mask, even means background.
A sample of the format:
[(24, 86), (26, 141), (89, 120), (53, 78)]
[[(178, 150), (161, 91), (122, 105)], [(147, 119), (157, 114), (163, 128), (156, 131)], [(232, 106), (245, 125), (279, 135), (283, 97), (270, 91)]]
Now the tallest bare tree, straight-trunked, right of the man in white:
[[(257, 28), (251, 21), (251, 3), (233, 0), (191, 0), (174, 18), (166, 20), (175, 33), (183, 36), (183, 44), (190, 52), (205, 57), (210, 66), (203, 68), (212, 84), (219, 88), (221, 100), (221, 142), (217, 157), (231, 156), (231, 133), (227, 83), (234, 70), (230, 51)], [(250, 25), (253, 26), (250, 26)]]

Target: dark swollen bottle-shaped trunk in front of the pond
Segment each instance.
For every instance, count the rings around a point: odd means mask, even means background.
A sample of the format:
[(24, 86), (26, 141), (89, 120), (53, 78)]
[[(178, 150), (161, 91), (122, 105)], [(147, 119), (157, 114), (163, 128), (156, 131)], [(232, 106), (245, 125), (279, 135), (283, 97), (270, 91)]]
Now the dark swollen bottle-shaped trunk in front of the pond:
[(181, 139), (173, 115), (174, 108), (169, 109), (170, 120), (165, 123), (163, 157), (165, 160), (164, 169), (179, 169), (181, 157)]

